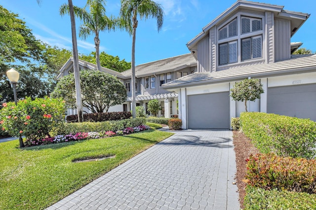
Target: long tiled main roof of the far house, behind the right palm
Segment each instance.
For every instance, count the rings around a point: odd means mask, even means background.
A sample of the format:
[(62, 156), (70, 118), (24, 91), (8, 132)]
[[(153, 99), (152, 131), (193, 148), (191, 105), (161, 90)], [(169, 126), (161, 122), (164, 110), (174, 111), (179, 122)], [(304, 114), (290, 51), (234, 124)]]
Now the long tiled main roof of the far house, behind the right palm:
[[(197, 61), (191, 53), (184, 55), (174, 56), (171, 58), (161, 59), (145, 64), (140, 64), (135, 67), (136, 77), (149, 76), (158, 73), (182, 70), (187, 67), (197, 66)], [(131, 70), (121, 72), (122, 75), (130, 77)]]

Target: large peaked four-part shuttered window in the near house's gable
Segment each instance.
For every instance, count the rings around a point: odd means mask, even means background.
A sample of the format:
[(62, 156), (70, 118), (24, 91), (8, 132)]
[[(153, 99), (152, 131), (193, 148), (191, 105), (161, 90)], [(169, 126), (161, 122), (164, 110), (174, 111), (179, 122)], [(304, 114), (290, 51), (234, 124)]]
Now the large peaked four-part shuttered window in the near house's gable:
[(218, 30), (219, 65), (262, 58), (262, 19), (245, 16), (239, 18), (240, 30), (237, 30), (237, 18)]

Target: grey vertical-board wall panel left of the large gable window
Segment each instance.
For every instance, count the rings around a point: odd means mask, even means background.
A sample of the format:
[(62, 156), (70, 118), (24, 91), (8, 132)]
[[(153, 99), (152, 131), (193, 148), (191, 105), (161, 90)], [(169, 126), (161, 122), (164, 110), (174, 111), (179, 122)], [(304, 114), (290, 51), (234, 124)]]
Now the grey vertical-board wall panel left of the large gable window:
[(209, 38), (206, 36), (197, 45), (198, 71), (209, 71)]

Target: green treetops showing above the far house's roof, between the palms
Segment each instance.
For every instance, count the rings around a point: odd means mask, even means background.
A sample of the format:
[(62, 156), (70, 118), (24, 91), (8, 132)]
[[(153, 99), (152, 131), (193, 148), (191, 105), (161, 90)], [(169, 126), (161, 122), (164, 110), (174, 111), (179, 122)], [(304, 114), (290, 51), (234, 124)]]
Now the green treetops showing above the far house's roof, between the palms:
[[(96, 64), (95, 62), (95, 52), (91, 52), (89, 55), (81, 55), (80, 59)], [(100, 64), (102, 67), (108, 68), (110, 70), (115, 70), (122, 72), (124, 70), (130, 69), (130, 62), (126, 62), (125, 59), (119, 60), (118, 56), (112, 56), (106, 52), (100, 53)]]

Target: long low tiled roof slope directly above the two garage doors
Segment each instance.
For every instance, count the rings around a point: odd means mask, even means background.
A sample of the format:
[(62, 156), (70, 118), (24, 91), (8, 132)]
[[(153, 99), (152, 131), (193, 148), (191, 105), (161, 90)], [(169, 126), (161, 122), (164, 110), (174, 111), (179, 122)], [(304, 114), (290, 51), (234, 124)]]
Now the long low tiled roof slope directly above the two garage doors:
[(177, 89), (196, 85), (260, 78), (284, 74), (316, 71), (316, 55), (292, 55), (292, 58), (271, 64), (232, 68), (215, 72), (196, 72), (162, 85), (163, 89)]

